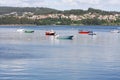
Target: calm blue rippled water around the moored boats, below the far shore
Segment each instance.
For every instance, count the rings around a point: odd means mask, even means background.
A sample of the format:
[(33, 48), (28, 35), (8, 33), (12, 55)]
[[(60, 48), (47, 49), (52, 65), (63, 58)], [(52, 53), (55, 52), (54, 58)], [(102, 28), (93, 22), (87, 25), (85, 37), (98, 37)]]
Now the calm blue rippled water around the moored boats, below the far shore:
[[(19, 33), (18, 28), (34, 33)], [(120, 80), (119, 26), (1, 26), (0, 80)], [(73, 40), (45, 36), (53, 29)], [(78, 34), (79, 29), (97, 35)]]

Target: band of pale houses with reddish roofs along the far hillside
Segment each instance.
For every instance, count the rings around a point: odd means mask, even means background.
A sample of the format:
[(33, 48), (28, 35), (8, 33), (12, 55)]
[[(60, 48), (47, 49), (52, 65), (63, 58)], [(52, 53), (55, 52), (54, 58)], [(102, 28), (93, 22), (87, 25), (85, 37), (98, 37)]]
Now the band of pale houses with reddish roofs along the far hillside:
[[(7, 16), (11, 16), (14, 15), (14, 17), (18, 17), (18, 18), (28, 18), (28, 19), (47, 19), (47, 18), (66, 18), (66, 19), (71, 19), (73, 21), (78, 21), (78, 20), (83, 20), (83, 19), (94, 19), (97, 18), (99, 20), (110, 20), (110, 21), (116, 21), (117, 19), (120, 18), (120, 14), (113, 14), (113, 15), (101, 15), (98, 13), (86, 13), (83, 15), (74, 15), (74, 14), (70, 14), (70, 15), (64, 15), (64, 14), (43, 14), (43, 15), (34, 15), (34, 13), (31, 12), (24, 12), (22, 16), (18, 16), (18, 14), (16, 12), (12, 12), (10, 14), (5, 14)], [(4, 15), (4, 16), (5, 16)]]

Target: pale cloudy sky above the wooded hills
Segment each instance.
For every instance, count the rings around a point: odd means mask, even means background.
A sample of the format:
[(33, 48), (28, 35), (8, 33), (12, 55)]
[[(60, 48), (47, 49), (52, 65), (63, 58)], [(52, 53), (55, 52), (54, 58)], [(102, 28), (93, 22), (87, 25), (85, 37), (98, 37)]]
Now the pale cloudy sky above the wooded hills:
[(48, 7), (58, 10), (95, 8), (120, 11), (120, 0), (0, 0), (0, 6)]

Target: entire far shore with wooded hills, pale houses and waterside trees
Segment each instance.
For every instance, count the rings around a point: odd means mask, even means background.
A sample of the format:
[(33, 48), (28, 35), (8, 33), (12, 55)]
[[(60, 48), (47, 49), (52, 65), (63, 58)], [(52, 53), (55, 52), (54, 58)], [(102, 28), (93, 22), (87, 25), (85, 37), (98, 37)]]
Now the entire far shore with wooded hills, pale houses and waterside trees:
[[(10, 11), (7, 12), (7, 9)], [(50, 8), (1, 7), (0, 24), (120, 25), (120, 12), (93, 8), (86, 11), (79, 9), (59, 11)]]

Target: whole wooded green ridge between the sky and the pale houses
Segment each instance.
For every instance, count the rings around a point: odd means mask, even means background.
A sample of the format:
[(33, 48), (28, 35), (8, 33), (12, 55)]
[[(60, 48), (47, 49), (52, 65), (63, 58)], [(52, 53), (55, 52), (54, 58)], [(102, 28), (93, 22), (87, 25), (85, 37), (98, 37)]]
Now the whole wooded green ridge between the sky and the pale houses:
[(69, 14), (75, 14), (75, 15), (82, 15), (85, 13), (99, 13), (101, 15), (109, 15), (109, 14), (120, 14), (120, 12), (116, 11), (103, 11), (100, 9), (93, 9), (89, 8), (88, 10), (82, 10), (82, 9), (72, 9), (72, 10), (56, 10), (51, 8), (45, 8), (45, 7), (0, 7), (0, 15), (3, 14), (9, 14), (12, 12), (17, 12), (18, 15), (22, 15), (24, 12), (32, 12), (34, 15), (40, 15), (40, 14), (56, 14), (56, 13), (62, 13), (65, 15)]

